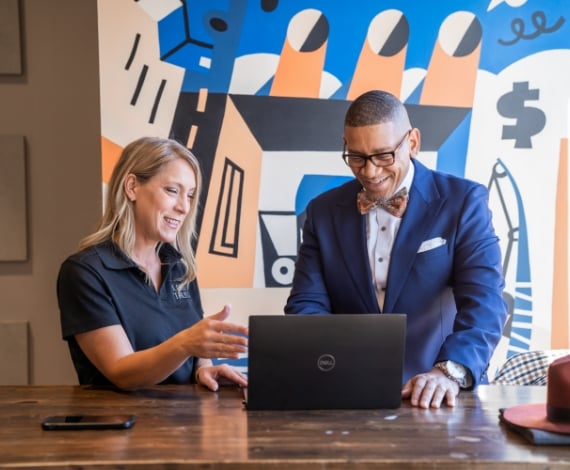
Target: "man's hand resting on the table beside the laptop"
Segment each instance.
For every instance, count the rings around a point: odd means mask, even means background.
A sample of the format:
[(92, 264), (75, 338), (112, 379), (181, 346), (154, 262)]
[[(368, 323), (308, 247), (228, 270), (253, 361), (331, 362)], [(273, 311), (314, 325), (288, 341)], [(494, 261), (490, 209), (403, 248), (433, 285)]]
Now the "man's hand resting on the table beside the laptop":
[(402, 388), (402, 398), (409, 398), (412, 406), (420, 408), (439, 408), (444, 398), (447, 406), (455, 406), (458, 393), (457, 382), (437, 368), (412, 377)]

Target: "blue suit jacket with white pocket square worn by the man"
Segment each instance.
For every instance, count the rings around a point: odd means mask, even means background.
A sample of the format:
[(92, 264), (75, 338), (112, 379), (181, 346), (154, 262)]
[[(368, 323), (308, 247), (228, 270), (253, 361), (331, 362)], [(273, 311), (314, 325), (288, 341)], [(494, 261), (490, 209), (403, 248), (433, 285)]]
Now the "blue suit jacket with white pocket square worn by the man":
[[(404, 382), (451, 359), (471, 371), (476, 386), (486, 382), (507, 315), (488, 191), (412, 162), (414, 180), (391, 253), (383, 311), (407, 314)], [(308, 204), (285, 313), (379, 312), (366, 217), (356, 209), (360, 189), (352, 180)], [(445, 243), (418, 252), (438, 237)]]

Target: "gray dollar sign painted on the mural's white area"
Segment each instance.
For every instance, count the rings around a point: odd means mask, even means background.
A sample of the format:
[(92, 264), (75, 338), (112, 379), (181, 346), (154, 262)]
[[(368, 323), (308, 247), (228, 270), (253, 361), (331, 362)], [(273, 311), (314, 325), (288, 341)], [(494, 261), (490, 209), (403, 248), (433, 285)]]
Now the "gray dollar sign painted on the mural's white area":
[(537, 100), (539, 90), (530, 90), (528, 82), (513, 83), (513, 91), (505, 93), (497, 101), (497, 111), (501, 116), (514, 118), (513, 126), (503, 126), (503, 140), (515, 139), (515, 148), (532, 148), (530, 138), (544, 129), (546, 116), (542, 110), (525, 106), (527, 100)]

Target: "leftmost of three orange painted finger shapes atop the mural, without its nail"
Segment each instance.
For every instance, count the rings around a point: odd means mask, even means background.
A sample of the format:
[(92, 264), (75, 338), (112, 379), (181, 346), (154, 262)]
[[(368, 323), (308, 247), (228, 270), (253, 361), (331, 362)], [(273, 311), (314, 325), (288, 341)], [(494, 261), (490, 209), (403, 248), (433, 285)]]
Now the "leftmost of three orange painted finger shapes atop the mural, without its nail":
[(313, 52), (299, 52), (285, 41), (271, 85), (271, 96), (318, 98), (328, 42)]

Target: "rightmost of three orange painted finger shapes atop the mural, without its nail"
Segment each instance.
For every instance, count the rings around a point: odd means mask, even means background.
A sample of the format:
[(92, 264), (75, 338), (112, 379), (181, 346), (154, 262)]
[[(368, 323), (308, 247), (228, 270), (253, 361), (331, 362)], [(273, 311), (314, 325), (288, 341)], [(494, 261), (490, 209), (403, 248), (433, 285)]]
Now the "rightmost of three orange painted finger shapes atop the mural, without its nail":
[(450, 57), (437, 43), (424, 80), (420, 104), (473, 107), (480, 54), (481, 44), (467, 56)]

